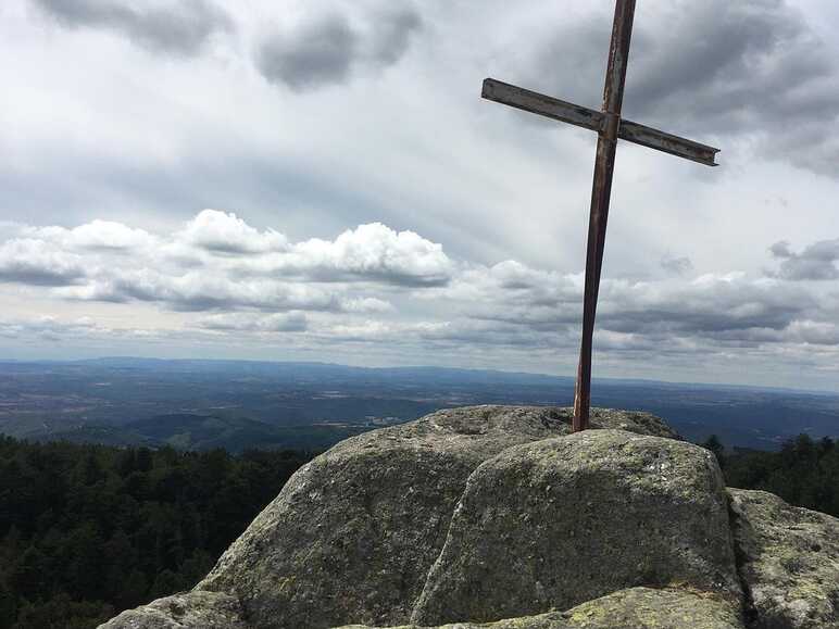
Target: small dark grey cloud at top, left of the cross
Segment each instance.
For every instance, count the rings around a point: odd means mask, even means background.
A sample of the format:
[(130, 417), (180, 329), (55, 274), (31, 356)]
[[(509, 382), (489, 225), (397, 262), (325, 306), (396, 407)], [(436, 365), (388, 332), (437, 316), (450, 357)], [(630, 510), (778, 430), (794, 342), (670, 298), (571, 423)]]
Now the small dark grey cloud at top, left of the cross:
[(305, 14), (265, 38), (255, 63), (266, 79), (297, 91), (342, 84), (356, 70), (397, 63), (421, 25), (410, 7), (368, 10), (354, 21), (338, 11)]

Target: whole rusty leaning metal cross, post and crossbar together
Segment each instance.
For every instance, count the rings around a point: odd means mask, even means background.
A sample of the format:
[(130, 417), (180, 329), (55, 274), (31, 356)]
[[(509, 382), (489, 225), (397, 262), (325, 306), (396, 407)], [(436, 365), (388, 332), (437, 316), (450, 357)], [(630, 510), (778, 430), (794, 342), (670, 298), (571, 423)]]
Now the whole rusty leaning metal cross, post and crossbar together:
[(603, 265), (603, 246), (606, 238), (609, 199), (612, 192), (612, 174), (615, 165), (617, 139), (664, 151), (706, 166), (716, 166), (714, 156), (719, 149), (706, 147), (685, 138), (665, 134), (621, 117), (626, 81), (626, 63), (633, 36), (635, 0), (617, 0), (612, 43), (609, 50), (606, 85), (603, 90), (602, 111), (561, 101), (535, 91), (522, 89), (487, 78), (481, 96), (486, 99), (536, 113), (555, 121), (577, 125), (598, 133), (598, 150), (594, 161), (594, 183), (591, 190), (591, 211), (588, 225), (586, 253), (586, 288), (583, 302), (583, 341), (579, 350), (577, 383), (574, 390), (574, 431), (588, 428), (591, 401), (591, 339), (594, 334), (600, 269)]

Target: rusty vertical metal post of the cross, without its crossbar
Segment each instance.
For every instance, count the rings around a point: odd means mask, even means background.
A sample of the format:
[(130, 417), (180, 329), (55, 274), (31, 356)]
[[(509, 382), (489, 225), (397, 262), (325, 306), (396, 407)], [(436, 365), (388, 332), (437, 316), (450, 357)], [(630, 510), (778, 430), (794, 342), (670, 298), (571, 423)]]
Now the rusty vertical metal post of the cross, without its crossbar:
[(612, 43), (609, 49), (609, 67), (603, 89), (603, 128), (598, 134), (598, 152), (594, 162), (594, 181), (591, 189), (591, 212), (588, 225), (586, 251), (586, 288), (583, 303), (583, 341), (579, 350), (577, 385), (574, 391), (575, 432), (586, 430), (591, 403), (591, 341), (594, 334), (600, 269), (603, 266), (603, 246), (606, 239), (609, 201), (612, 193), (612, 175), (615, 166), (617, 131), (621, 126), (621, 106), (624, 101), (626, 64), (633, 36), (635, 0), (617, 0)]

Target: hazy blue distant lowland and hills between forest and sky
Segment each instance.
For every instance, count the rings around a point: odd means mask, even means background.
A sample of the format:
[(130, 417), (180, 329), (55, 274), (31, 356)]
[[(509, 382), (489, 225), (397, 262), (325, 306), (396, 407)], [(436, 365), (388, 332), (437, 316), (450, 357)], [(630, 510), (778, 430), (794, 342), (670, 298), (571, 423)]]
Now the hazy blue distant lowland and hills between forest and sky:
[[(322, 450), (437, 408), (571, 405), (567, 377), (439, 367), (108, 357), (0, 362), (0, 432), (189, 450)], [(774, 449), (839, 436), (839, 394), (598, 379), (594, 405), (649, 411), (687, 438)]]

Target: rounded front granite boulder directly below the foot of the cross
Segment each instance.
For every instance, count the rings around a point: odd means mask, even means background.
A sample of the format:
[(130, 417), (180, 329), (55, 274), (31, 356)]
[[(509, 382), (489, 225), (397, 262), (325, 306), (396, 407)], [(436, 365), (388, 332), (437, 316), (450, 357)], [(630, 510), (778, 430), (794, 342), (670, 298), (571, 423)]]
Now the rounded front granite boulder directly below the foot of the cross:
[(716, 458), (587, 430), (506, 449), (469, 476), (412, 621), (490, 621), (675, 582), (741, 595)]

